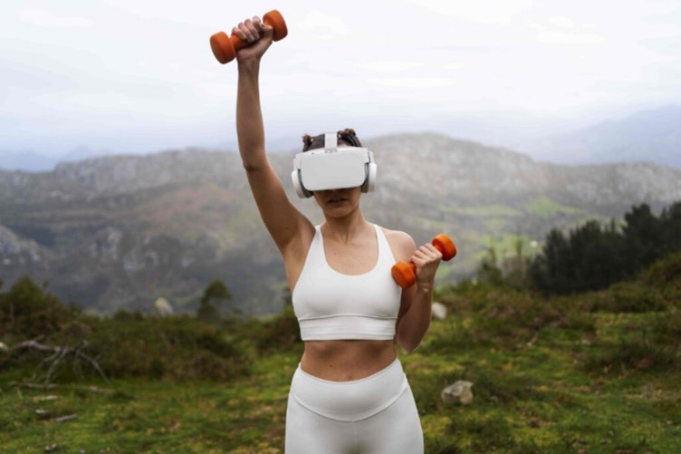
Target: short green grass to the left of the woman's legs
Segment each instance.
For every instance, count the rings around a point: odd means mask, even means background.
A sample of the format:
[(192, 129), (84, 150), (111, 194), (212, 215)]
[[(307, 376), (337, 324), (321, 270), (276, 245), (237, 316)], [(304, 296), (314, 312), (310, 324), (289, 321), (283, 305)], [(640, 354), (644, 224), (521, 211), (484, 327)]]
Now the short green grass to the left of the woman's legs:
[[(39, 452), (56, 445), (60, 452), (279, 452), (287, 383), (259, 384), (130, 380), (101, 391), (4, 386), (0, 450)], [(44, 396), (57, 399), (41, 401)], [(38, 416), (39, 410), (48, 414)], [(53, 420), (74, 413), (74, 420)]]

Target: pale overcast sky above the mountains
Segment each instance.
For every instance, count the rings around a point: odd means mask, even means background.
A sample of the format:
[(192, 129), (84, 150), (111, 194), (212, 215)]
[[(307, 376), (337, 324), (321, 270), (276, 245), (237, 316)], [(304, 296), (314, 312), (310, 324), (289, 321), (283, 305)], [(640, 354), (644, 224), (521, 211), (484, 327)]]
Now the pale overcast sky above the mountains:
[(345, 127), (513, 145), (681, 102), (680, 0), (3, 0), (0, 153), (233, 147), (208, 38), (274, 8), (271, 150)]

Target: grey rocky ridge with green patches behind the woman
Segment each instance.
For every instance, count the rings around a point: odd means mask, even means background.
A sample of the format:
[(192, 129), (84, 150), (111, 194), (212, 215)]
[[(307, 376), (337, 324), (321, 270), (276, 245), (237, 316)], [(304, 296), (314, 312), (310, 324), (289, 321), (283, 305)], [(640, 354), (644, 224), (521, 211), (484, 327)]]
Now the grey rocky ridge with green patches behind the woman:
[[(681, 170), (653, 164), (558, 166), (432, 133), (365, 145), (379, 162), (377, 191), (362, 202), (369, 220), (417, 243), (441, 231), (455, 238), (459, 255), (442, 266), (440, 282), (472, 275), (485, 247), (520, 238), (532, 253), (552, 227), (681, 200)], [(294, 151), (273, 154), (273, 166), (294, 203), (321, 222), (313, 201), (290, 188)], [(193, 312), (214, 278), (230, 288), (232, 309), (250, 314), (278, 312), (286, 295), (281, 259), (230, 151), (0, 170), (0, 279), (9, 285), (24, 274), (101, 313), (147, 311), (161, 296)]]

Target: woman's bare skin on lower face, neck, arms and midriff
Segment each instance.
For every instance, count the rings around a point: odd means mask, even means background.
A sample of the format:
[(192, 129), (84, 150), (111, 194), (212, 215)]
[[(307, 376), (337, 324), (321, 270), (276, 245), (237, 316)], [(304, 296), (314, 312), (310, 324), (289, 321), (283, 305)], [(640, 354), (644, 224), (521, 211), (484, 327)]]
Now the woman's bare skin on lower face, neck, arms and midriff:
[[(261, 59), (273, 41), (273, 29), (254, 17), (235, 26), (232, 33), (252, 43), (236, 53), (239, 152), (264, 225), (282, 254), (293, 293), (315, 228), (287, 198), (264, 149), (259, 74)], [(374, 227), (362, 214), (360, 188), (316, 191), (314, 198), (325, 218), (321, 235), (329, 265), (347, 275), (372, 269), (378, 260), (378, 240)], [(301, 359), (303, 371), (334, 382), (359, 380), (393, 362), (397, 357), (396, 343), (407, 352), (421, 343), (430, 324), (433, 285), (442, 255), (430, 244), (417, 248), (405, 232), (387, 228), (383, 232), (395, 259), (411, 261), (417, 267), (416, 285), (402, 291), (395, 340), (306, 341)]]

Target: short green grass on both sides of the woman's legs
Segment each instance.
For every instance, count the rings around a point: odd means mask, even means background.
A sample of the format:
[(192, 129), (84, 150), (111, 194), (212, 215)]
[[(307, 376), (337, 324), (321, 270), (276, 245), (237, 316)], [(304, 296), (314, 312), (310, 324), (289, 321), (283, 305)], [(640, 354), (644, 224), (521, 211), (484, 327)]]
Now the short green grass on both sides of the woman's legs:
[[(579, 330), (546, 328), (522, 347), (453, 344), (450, 352), (433, 352), (430, 344), (448, 335), (456, 317), (435, 322), (416, 353), (401, 355), (427, 452), (681, 452), (681, 374), (584, 367), (585, 356), (617, 342), (622, 328), (646, 315), (594, 314), (599, 343)], [(282, 452), (299, 354), (264, 356), (249, 377), (225, 383), (117, 380), (38, 391), (3, 382), (0, 446), (7, 452), (53, 445), (60, 452)], [(446, 406), (439, 393), (459, 379), (474, 382), (474, 403)], [(74, 420), (53, 421), (74, 413)]]

